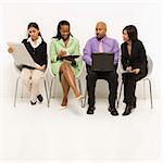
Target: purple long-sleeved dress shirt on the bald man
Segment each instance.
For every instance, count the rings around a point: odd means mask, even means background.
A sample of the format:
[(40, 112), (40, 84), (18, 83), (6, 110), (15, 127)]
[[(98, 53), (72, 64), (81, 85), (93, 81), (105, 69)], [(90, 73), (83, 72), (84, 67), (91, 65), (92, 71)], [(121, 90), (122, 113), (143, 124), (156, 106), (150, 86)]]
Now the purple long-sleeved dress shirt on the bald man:
[[(120, 48), (118, 48), (117, 41), (113, 38), (109, 38), (104, 36), (102, 38), (102, 42), (103, 42), (104, 52), (114, 53), (114, 65), (116, 65), (120, 59)], [(92, 65), (91, 53), (99, 52), (99, 43), (100, 43), (100, 40), (98, 40), (97, 37), (92, 37), (87, 41), (84, 48), (84, 55), (83, 55), (83, 60), (87, 64)]]

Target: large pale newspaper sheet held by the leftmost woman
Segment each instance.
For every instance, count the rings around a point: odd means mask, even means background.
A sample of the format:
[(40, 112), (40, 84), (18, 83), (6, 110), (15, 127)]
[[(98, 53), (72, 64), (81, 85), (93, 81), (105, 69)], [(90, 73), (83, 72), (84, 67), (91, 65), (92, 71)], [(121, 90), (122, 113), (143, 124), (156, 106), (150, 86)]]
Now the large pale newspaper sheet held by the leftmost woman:
[(14, 50), (12, 57), (14, 58), (14, 62), (16, 65), (28, 65), (32, 67), (36, 66), (36, 63), (34, 62), (33, 58), (23, 43), (8, 42), (7, 45), (9, 47), (12, 47)]

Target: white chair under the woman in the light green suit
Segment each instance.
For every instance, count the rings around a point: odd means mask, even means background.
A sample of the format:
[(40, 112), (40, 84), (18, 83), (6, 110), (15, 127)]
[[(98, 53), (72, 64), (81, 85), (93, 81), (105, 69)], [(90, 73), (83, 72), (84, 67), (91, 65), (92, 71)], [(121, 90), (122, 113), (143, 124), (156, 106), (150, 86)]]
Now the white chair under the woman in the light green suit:
[[(54, 98), (54, 93), (52, 96), (52, 87), (55, 88), (55, 80), (57, 80), (57, 76), (54, 76), (54, 74), (52, 73), (51, 71), (51, 64), (49, 64), (49, 71), (50, 71), (50, 74), (51, 74), (51, 82), (50, 82), (50, 88), (49, 88), (49, 100), (48, 100), (48, 106), (50, 105), (50, 99), (51, 97)], [(83, 92), (83, 89), (82, 89), (82, 80), (80, 80), (80, 76), (82, 76), (82, 73), (84, 72), (84, 62), (82, 64), (82, 68), (80, 68), (80, 72), (78, 74), (78, 76), (75, 78), (77, 82), (78, 82), (78, 88), (79, 88), (79, 91), (80, 93)], [(83, 100), (82, 100), (82, 106), (83, 106)]]

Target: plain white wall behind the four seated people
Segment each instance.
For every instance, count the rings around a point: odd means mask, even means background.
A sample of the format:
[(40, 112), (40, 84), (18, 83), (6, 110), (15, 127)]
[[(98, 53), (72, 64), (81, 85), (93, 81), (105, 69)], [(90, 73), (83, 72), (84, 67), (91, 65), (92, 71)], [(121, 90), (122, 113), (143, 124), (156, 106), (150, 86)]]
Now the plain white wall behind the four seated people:
[[(29, 22), (37, 22), (42, 37), (48, 46), (57, 33), (57, 25), (61, 20), (67, 20), (72, 25), (72, 34), (80, 41), (80, 52), (86, 41), (95, 36), (95, 26), (98, 21), (108, 24), (108, 36), (122, 40), (122, 29), (129, 24), (138, 28), (139, 39), (142, 40), (147, 53), (151, 55), (154, 67), (152, 84), (154, 96), (161, 93), (161, 8), (156, 3), (3, 3), (1, 25), (3, 28), (3, 53), (1, 68), (3, 70), (2, 93), (13, 96), (15, 71), (13, 60), (7, 52), (4, 42), (18, 41), (26, 37)], [(5, 48), (4, 48), (5, 47)], [(85, 79), (85, 77), (84, 77)], [(105, 84), (104, 84), (105, 85)], [(138, 88), (141, 93), (142, 87)], [(102, 85), (102, 89), (105, 86)], [(102, 91), (100, 91), (102, 92)]]

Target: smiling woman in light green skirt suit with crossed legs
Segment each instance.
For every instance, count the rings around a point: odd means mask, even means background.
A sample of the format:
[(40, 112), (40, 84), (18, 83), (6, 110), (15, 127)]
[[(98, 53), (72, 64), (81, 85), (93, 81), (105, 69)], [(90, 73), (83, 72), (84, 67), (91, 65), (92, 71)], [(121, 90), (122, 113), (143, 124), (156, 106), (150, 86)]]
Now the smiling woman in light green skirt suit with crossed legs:
[(58, 25), (58, 34), (52, 38), (50, 45), (51, 70), (54, 76), (60, 78), (63, 88), (61, 109), (67, 106), (70, 87), (73, 89), (77, 100), (83, 99), (75, 83), (75, 77), (78, 77), (80, 73), (82, 60), (70, 63), (62, 59), (67, 54), (80, 55), (79, 42), (72, 36), (70, 28), (71, 25), (67, 21), (61, 21)]

